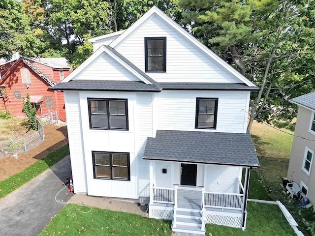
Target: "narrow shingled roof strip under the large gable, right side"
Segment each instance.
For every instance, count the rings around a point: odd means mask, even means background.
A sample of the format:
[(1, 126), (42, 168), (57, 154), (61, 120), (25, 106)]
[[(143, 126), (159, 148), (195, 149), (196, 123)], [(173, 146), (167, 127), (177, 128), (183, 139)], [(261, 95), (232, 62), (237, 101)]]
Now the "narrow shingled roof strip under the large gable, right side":
[(160, 83), (163, 89), (172, 90), (259, 90), (241, 83)]

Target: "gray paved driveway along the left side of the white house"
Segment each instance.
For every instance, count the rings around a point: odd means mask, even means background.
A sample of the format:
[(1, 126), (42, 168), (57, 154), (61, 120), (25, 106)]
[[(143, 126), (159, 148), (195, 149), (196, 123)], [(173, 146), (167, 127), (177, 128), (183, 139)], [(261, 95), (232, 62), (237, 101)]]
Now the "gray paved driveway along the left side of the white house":
[[(37, 236), (63, 204), (55, 195), (71, 177), (70, 156), (0, 200), (0, 236)], [(64, 189), (57, 200), (67, 202), (73, 193)]]

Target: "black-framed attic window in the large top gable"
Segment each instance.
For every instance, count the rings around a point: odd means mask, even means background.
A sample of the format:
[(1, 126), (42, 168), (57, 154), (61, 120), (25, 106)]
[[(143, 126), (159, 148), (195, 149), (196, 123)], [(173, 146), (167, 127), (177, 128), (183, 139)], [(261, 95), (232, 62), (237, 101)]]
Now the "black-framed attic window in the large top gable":
[(146, 72), (166, 72), (166, 37), (145, 37)]

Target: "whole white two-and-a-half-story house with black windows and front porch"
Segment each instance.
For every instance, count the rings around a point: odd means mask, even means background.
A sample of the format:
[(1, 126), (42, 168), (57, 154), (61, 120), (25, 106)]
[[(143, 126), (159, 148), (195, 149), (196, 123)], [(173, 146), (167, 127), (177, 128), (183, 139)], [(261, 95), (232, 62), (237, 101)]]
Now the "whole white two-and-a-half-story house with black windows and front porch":
[(173, 231), (245, 229), (257, 87), (157, 7), (90, 41), (94, 54), (54, 88), (64, 91), (74, 192), (148, 203)]

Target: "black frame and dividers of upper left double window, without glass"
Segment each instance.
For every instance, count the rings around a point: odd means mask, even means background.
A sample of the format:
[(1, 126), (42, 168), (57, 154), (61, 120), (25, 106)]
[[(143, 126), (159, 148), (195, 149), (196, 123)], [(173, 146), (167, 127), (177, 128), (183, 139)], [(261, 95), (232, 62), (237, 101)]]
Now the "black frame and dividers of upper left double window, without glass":
[[(108, 127), (93, 127), (92, 116), (95, 114), (92, 114), (91, 101), (106, 101), (106, 114), (104, 114), (104, 115), (107, 116)], [(110, 101), (123, 101), (123, 102), (125, 102), (126, 128), (111, 127), (110, 116), (114, 116), (114, 115), (110, 115), (110, 112), (109, 112), (109, 102)], [(89, 109), (90, 129), (129, 130), (129, 126), (128, 126), (128, 99), (126, 99), (126, 98), (88, 98), (88, 109)], [(101, 114), (98, 114), (98, 115), (101, 115)]]

